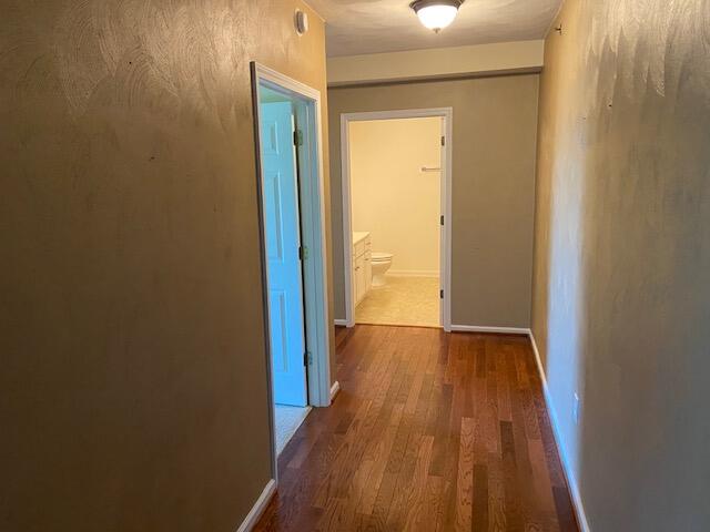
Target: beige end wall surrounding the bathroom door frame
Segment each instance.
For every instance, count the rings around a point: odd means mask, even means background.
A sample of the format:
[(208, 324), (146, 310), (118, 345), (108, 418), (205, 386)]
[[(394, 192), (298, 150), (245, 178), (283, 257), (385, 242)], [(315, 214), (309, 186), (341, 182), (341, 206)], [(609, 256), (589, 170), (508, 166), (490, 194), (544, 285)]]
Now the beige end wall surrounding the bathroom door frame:
[(342, 113), (454, 109), (452, 320), (529, 327), (538, 75), (328, 90), (335, 317), (345, 317)]

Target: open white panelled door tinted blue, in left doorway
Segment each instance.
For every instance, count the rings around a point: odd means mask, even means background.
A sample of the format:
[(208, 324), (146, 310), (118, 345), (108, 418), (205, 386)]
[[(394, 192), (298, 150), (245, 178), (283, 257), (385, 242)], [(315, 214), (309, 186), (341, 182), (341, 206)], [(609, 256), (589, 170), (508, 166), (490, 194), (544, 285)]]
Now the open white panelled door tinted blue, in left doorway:
[(306, 406), (298, 184), (291, 102), (260, 108), (274, 401)]

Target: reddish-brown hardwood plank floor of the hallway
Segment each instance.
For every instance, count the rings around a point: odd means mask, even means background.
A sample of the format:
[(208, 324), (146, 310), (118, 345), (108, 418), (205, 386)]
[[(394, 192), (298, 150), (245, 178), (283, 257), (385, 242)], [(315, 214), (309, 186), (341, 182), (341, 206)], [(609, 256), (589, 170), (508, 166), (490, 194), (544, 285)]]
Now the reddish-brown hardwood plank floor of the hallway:
[(337, 329), (257, 531), (577, 531), (525, 337)]

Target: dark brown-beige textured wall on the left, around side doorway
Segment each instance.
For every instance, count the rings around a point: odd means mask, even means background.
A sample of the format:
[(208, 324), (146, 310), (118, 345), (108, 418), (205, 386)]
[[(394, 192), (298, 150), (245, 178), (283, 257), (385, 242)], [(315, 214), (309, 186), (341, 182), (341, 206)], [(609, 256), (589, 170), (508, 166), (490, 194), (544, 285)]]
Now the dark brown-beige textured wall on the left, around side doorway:
[(296, 7), (3, 2), (3, 531), (234, 531), (272, 477), (248, 62), (325, 96)]

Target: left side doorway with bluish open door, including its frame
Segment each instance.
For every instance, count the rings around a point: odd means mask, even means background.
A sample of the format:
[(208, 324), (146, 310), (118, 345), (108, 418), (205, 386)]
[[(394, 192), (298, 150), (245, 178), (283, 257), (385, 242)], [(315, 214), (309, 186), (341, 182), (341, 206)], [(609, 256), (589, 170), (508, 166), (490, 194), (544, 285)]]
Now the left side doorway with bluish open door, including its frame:
[(252, 63), (270, 412), (276, 457), (328, 406), (320, 92)]

